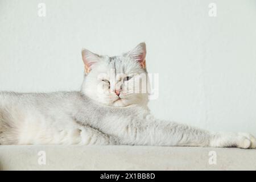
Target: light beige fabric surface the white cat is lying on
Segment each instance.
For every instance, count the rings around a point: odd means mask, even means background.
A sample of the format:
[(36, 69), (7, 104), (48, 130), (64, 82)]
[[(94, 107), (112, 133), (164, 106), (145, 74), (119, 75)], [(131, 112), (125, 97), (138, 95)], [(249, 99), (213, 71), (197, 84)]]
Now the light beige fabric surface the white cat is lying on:
[(0, 146), (1, 170), (256, 170), (255, 161), (240, 148)]

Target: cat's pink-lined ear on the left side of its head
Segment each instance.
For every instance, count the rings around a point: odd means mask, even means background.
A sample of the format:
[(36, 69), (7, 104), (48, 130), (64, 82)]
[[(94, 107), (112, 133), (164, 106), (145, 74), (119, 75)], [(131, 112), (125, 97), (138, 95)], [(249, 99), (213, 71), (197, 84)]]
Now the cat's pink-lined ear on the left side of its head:
[(82, 60), (84, 61), (85, 73), (88, 74), (92, 70), (92, 65), (100, 60), (100, 56), (83, 48)]

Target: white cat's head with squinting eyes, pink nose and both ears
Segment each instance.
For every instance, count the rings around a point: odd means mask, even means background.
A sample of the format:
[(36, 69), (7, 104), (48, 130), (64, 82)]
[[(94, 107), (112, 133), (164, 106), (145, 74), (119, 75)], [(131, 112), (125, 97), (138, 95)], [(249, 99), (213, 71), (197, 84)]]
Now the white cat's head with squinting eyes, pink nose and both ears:
[(100, 56), (82, 49), (82, 93), (108, 106), (147, 105), (146, 44), (119, 56)]

